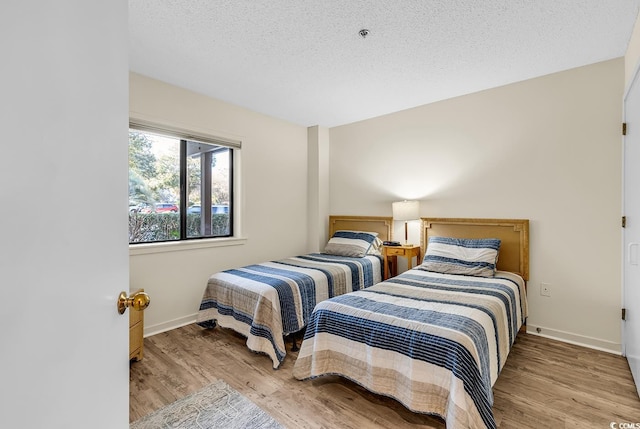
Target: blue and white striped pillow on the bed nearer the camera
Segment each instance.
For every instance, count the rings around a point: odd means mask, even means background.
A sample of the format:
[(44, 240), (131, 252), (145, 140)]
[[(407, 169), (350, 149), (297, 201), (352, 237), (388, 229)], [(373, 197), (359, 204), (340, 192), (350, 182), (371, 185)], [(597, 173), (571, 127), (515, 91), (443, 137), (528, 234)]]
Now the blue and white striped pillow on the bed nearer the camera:
[(497, 238), (429, 237), (420, 268), (444, 274), (493, 277), (499, 251)]

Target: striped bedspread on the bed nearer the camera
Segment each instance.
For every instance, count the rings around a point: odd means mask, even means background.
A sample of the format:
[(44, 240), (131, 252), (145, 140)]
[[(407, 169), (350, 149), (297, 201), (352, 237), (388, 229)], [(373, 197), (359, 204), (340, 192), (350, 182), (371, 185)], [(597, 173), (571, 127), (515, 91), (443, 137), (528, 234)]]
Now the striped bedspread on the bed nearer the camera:
[(495, 428), (492, 387), (527, 316), (524, 280), (409, 270), (319, 303), (299, 380), (337, 374), (447, 428)]

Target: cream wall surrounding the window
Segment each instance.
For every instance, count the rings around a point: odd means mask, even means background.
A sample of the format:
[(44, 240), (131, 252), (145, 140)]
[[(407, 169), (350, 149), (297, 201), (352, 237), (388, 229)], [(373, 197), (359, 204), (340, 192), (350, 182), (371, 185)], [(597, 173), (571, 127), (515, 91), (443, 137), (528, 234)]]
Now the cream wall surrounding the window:
[(132, 118), (242, 141), (241, 240), (130, 246), (130, 288), (152, 300), (149, 335), (194, 321), (212, 273), (307, 251), (307, 129), (135, 73), (129, 103)]

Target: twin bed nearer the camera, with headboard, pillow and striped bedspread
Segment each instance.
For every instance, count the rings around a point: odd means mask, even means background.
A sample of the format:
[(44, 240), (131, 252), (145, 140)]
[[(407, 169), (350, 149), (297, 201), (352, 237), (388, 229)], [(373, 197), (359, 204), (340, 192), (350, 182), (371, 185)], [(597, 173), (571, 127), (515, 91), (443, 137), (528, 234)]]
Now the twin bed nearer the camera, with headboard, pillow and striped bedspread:
[(494, 428), (492, 387), (527, 316), (528, 240), (527, 220), (423, 218), (418, 267), (316, 300), (294, 377), (340, 375), (448, 428)]

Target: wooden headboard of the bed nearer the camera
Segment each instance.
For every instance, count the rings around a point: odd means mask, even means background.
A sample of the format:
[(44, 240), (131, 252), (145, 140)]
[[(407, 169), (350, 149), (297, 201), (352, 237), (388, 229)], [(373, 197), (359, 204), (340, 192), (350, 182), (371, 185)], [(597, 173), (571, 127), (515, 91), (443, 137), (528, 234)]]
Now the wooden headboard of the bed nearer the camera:
[(528, 219), (421, 218), (420, 247), (423, 255), (429, 237), (499, 238), (498, 269), (529, 280)]

